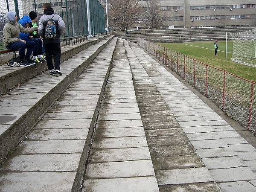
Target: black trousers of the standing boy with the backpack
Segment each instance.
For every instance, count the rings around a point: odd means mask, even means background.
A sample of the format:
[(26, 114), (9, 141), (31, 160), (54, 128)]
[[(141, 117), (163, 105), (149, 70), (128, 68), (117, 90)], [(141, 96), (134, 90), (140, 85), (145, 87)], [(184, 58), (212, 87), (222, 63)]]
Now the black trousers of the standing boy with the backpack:
[[(47, 61), (47, 66), (49, 70), (60, 70), (61, 62), (61, 44), (45, 44), (45, 58)], [(52, 57), (54, 61), (54, 66), (52, 63)]]

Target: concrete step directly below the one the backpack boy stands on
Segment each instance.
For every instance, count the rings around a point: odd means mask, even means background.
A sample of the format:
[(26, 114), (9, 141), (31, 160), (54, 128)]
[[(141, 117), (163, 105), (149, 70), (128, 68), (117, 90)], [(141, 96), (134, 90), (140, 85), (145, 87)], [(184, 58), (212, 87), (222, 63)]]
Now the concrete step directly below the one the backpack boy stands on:
[[(85, 162), (116, 41), (117, 38), (113, 38), (85, 67), (3, 163), (0, 191), (81, 190)], [(82, 63), (89, 55), (98, 52), (101, 43), (79, 52), (67, 60), (66, 65), (62, 64), (64, 74), (76, 73), (73, 69), (78, 61)], [(46, 80), (47, 83), (60, 84), (58, 78), (44, 76), (42, 80), (36, 79), (40, 84)]]

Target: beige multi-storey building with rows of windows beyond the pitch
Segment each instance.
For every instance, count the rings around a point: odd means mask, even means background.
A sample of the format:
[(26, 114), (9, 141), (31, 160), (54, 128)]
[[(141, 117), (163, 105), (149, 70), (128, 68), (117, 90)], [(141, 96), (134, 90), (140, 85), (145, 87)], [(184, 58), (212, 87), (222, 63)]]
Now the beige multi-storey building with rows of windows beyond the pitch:
[[(99, 0), (105, 4), (105, 0)], [(146, 0), (138, 0), (143, 6)], [(162, 28), (215, 26), (256, 26), (255, 0), (160, 0), (164, 15)], [(142, 29), (147, 18), (141, 17), (132, 26)]]

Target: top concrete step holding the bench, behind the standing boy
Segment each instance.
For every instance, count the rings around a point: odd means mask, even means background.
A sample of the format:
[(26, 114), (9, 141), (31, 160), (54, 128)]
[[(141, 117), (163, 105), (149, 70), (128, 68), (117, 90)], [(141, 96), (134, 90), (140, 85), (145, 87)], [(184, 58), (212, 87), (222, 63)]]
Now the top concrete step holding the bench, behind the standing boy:
[[(61, 62), (75, 55), (77, 52), (97, 44), (102, 38), (91, 38), (90, 41), (84, 41), (73, 46), (61, 47)], [(47, 64), (35, 64), (29, 67), (9, 67), (7, 64), (0, 66), (0, 95), (8, 92), (18, 84), (21, 84), (29, 79), (39, 75), (47, 70)]]

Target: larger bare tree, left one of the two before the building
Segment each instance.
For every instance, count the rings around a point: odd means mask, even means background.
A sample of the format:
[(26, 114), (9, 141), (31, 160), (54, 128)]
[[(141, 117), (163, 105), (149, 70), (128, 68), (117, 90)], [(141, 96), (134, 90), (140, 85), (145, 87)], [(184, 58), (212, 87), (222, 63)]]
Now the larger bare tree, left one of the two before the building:
[(123, 31), (128, 30), (142, 12), (137, 0), (110, 0), (108, 10), (111, 25)]

